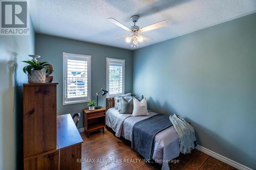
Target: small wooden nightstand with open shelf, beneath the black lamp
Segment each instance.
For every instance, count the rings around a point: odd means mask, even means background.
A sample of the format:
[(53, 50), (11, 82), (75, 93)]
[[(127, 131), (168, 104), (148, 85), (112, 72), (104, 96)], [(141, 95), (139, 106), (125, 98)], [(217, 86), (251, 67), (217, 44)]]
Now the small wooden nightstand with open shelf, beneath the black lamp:
[(88, 109), (83, 109), (83, 127), (84, 132), (87, 133), (87, 137), (90, 137), (90, 132), (102, 129), (104, 133), (104, 127), (106, 124), (106, 109), (101, 107), (100, 109), (95, 109), (89, 111)]

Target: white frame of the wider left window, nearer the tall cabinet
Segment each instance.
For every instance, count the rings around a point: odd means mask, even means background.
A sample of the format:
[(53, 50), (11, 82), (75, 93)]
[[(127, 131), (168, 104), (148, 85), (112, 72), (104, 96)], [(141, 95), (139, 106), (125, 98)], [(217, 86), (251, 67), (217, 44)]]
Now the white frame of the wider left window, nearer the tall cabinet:
[[(72, 53), (65, 53), (63, 52), (63, 103), (62, 105), (70, 105), (70, 104), (77, 104), (77, 103), (86, 103), (91, 101), (91, 57), (89, 55), (82, 55), (82, 54), (72, 54)], [(76, 100), (76, 101), (66, 101), (66, 70), (67, 70), (67, 65), (66, 65), (66, 60), (68, 58), (87, 58), (88, 60), (88, 98), (84, 100)]]

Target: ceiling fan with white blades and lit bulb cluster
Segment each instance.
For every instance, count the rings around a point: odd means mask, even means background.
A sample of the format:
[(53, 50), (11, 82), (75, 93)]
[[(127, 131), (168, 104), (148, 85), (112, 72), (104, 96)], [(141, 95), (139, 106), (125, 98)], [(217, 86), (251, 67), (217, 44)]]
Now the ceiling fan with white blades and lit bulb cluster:
[(150, 26), (139, 28), (139, 26), (136, 26), (136, 22), (138, 21), (139, 16), (138, 15), (133, 15), (131, 17), (131, 19), (132, 19), (134, 25), (131, 28), (128, 28), (128, 27), (124, 26), (121, 22), (117, 21), (116, 19), (108, 18), (109, 21), (111, 21), (112, 23), (114, 23), (118, 27), (121, 27), (122, 29), (124, 29), (126, 31), (129, 31), (131, 33), (130, 35), (124, 35), (124, 36), (116, 37), (114, 39), (126, 37), (125, 41), (127, 43), (132, 42), (132, 45), (131, 45), (132, 47), (138, 46), (139, 42), (141, 42), (143, 40), (146, 40), (146, 41), (152, 41), (153, 40), (152, 38), (150, 38), (150, 37), (148, 37), (144, 34), (141, 34), (141, 33), (151, 31), (151, 30), (155, 30), (155, 29), (159, 29), (161, 27), (165, 27), (165, 26), (168, 25), (166, 20), (162, 20), (162, 21), (153, 23)]

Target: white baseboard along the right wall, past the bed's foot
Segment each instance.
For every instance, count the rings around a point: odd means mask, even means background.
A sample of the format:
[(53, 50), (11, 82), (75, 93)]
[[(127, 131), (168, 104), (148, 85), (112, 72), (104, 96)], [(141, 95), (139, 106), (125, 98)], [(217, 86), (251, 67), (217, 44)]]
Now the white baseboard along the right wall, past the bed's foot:
[(239, 170), (252, 170), (251, 168), (249, 168), (247, 166), (244, 166), (244, 165), (242, 165), (242, 164), (240, 164), (240, 163), (238, 163), (236, 161), (228, 159), (227, 157), (224, 157), (224, 156), (222, 156), (220, 154), (217, 154), (217, 153), (215, 153), (215, 152), (213, 152), (211, 150), (208, 150), (208, 149), (206, 149), (204, 147), (201, 147), (200, 145), (197, 145), (196, 149), (198, 151), (201, 151), (201, 152), (203, 152), (203, 153), (205, 153), (207, 155), (210, 155), (210, 156), (212, 156), (212, 157), (214, 157), (214, 158), (216, 158), (216, 159), (218, 159), (218, 160), (220, 160), (220, 161), (222, 161), (222, 162), (224, 162), (226, 164), (229, 164), (230, 166), (233, 166), (233, 167), (235, 167), (235, 168), (237, 168)]

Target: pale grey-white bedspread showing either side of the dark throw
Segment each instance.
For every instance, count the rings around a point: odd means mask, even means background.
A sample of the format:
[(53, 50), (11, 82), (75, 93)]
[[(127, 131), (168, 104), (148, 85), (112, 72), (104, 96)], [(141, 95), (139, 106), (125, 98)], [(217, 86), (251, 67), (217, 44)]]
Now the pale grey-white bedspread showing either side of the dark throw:
[[(143, 120), (145, 118), (148, 118), (157, 114), (155, 112), (149, 112), (149, 113), (150, 114), (148, 114), (147, 116), (131, 116), (129, 114), (120, 114), (117, 111), (117, 109), (110, 108), (106, 112), (106, 125), (112, 128), (116, 132), (116, 134), (121, 134), (121, 136), (123, 136), (125, 139), (132, 141), (134, 124), (136, 124), (140, 120)], [(119, 128), (116, 128), (117, 124)], [(121, 131), (121, 132), (117, 132), (117, 131)], [(153, 159), (156, 162), (161, 163), (159, 161), (163, 160), (163, 158), (164, 160), (172, 160), (178, 157), (179, 154), (180, 154), (179, 137), (173, 126), (159, 132), (155, 136)], [(163, 169), (167, 169), (167, 168), (168, 168), (168, 164), (165, 164), (163, 166)]]

